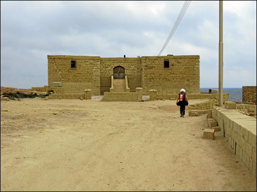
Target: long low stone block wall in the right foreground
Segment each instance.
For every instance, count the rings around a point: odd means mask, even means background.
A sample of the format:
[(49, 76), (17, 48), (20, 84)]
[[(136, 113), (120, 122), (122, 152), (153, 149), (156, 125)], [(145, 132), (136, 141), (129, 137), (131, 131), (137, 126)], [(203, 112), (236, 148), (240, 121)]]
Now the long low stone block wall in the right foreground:
[(256, 178), (256, 119), (215, 106), (212, 113), (236, 156)]

